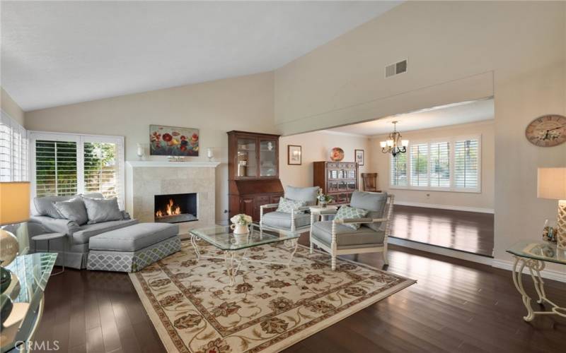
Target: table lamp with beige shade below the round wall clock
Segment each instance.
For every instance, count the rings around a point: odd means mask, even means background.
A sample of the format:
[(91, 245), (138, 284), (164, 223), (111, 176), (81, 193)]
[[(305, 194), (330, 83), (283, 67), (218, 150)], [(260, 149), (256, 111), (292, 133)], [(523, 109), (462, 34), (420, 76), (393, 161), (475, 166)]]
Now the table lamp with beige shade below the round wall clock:
[(566, 167), (538, 168), (536, 196), (558, 200), (557, 246), (566, 249)]

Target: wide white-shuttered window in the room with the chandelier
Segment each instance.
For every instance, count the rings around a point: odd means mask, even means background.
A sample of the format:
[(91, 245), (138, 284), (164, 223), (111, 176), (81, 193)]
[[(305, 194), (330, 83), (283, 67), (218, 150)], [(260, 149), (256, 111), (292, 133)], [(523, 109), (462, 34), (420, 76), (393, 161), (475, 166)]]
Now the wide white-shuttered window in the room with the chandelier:
[(480, 145), (480, 136), (411, 143), (391, 155), (391, 187), (480, 192)]

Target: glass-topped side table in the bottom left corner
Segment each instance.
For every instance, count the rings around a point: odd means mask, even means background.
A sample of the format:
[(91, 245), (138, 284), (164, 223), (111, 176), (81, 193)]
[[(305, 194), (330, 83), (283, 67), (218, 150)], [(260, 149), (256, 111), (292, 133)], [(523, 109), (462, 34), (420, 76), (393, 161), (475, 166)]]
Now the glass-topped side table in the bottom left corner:
[(11, 271), (10, 285), (1, 296), (11, 305), (11, 311), (0, 328), (0, 352), (26, 352), (16, 347), (33, 338), (41, 321), (43, 292), (49, 280), (57, 253), (32, 253), (16, 257), (6, 268)]

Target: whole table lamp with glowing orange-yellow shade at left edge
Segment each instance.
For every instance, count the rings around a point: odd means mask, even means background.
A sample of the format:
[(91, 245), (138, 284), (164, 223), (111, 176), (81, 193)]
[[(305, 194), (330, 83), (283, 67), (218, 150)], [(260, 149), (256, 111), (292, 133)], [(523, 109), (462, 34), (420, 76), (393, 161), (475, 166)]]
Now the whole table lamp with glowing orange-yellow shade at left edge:
[[(0, 226), (13, 225), (30, 218), (30, 182), (0, 182)], [(10, 284), (10, 271), (4, 268), (18, 256), (18, 239), (0, 228), (0, 288)]]

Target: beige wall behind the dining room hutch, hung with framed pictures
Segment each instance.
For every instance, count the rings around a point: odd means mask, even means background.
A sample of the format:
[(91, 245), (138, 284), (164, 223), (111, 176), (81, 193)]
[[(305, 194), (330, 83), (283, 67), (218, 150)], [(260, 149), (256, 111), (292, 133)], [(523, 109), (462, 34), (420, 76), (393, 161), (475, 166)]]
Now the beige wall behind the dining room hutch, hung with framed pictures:
[[(344, 150), (344, 160), (354, 162), (354, 150), (364, 150), (366, 162), (359, 172), (369, 172), (370, 144), (366, 136), (354, 136), (330, 131), (316, 131), (299, 135), (284, 136), (279, 140), (279, 177), (283, 186), (313, 186), (313, 162), (329, 160), (331, 148)], [(287, 146), (301, 146), (302, 164), (287, 164)], [(362, 184), (360, 184), (361, 186)]]

